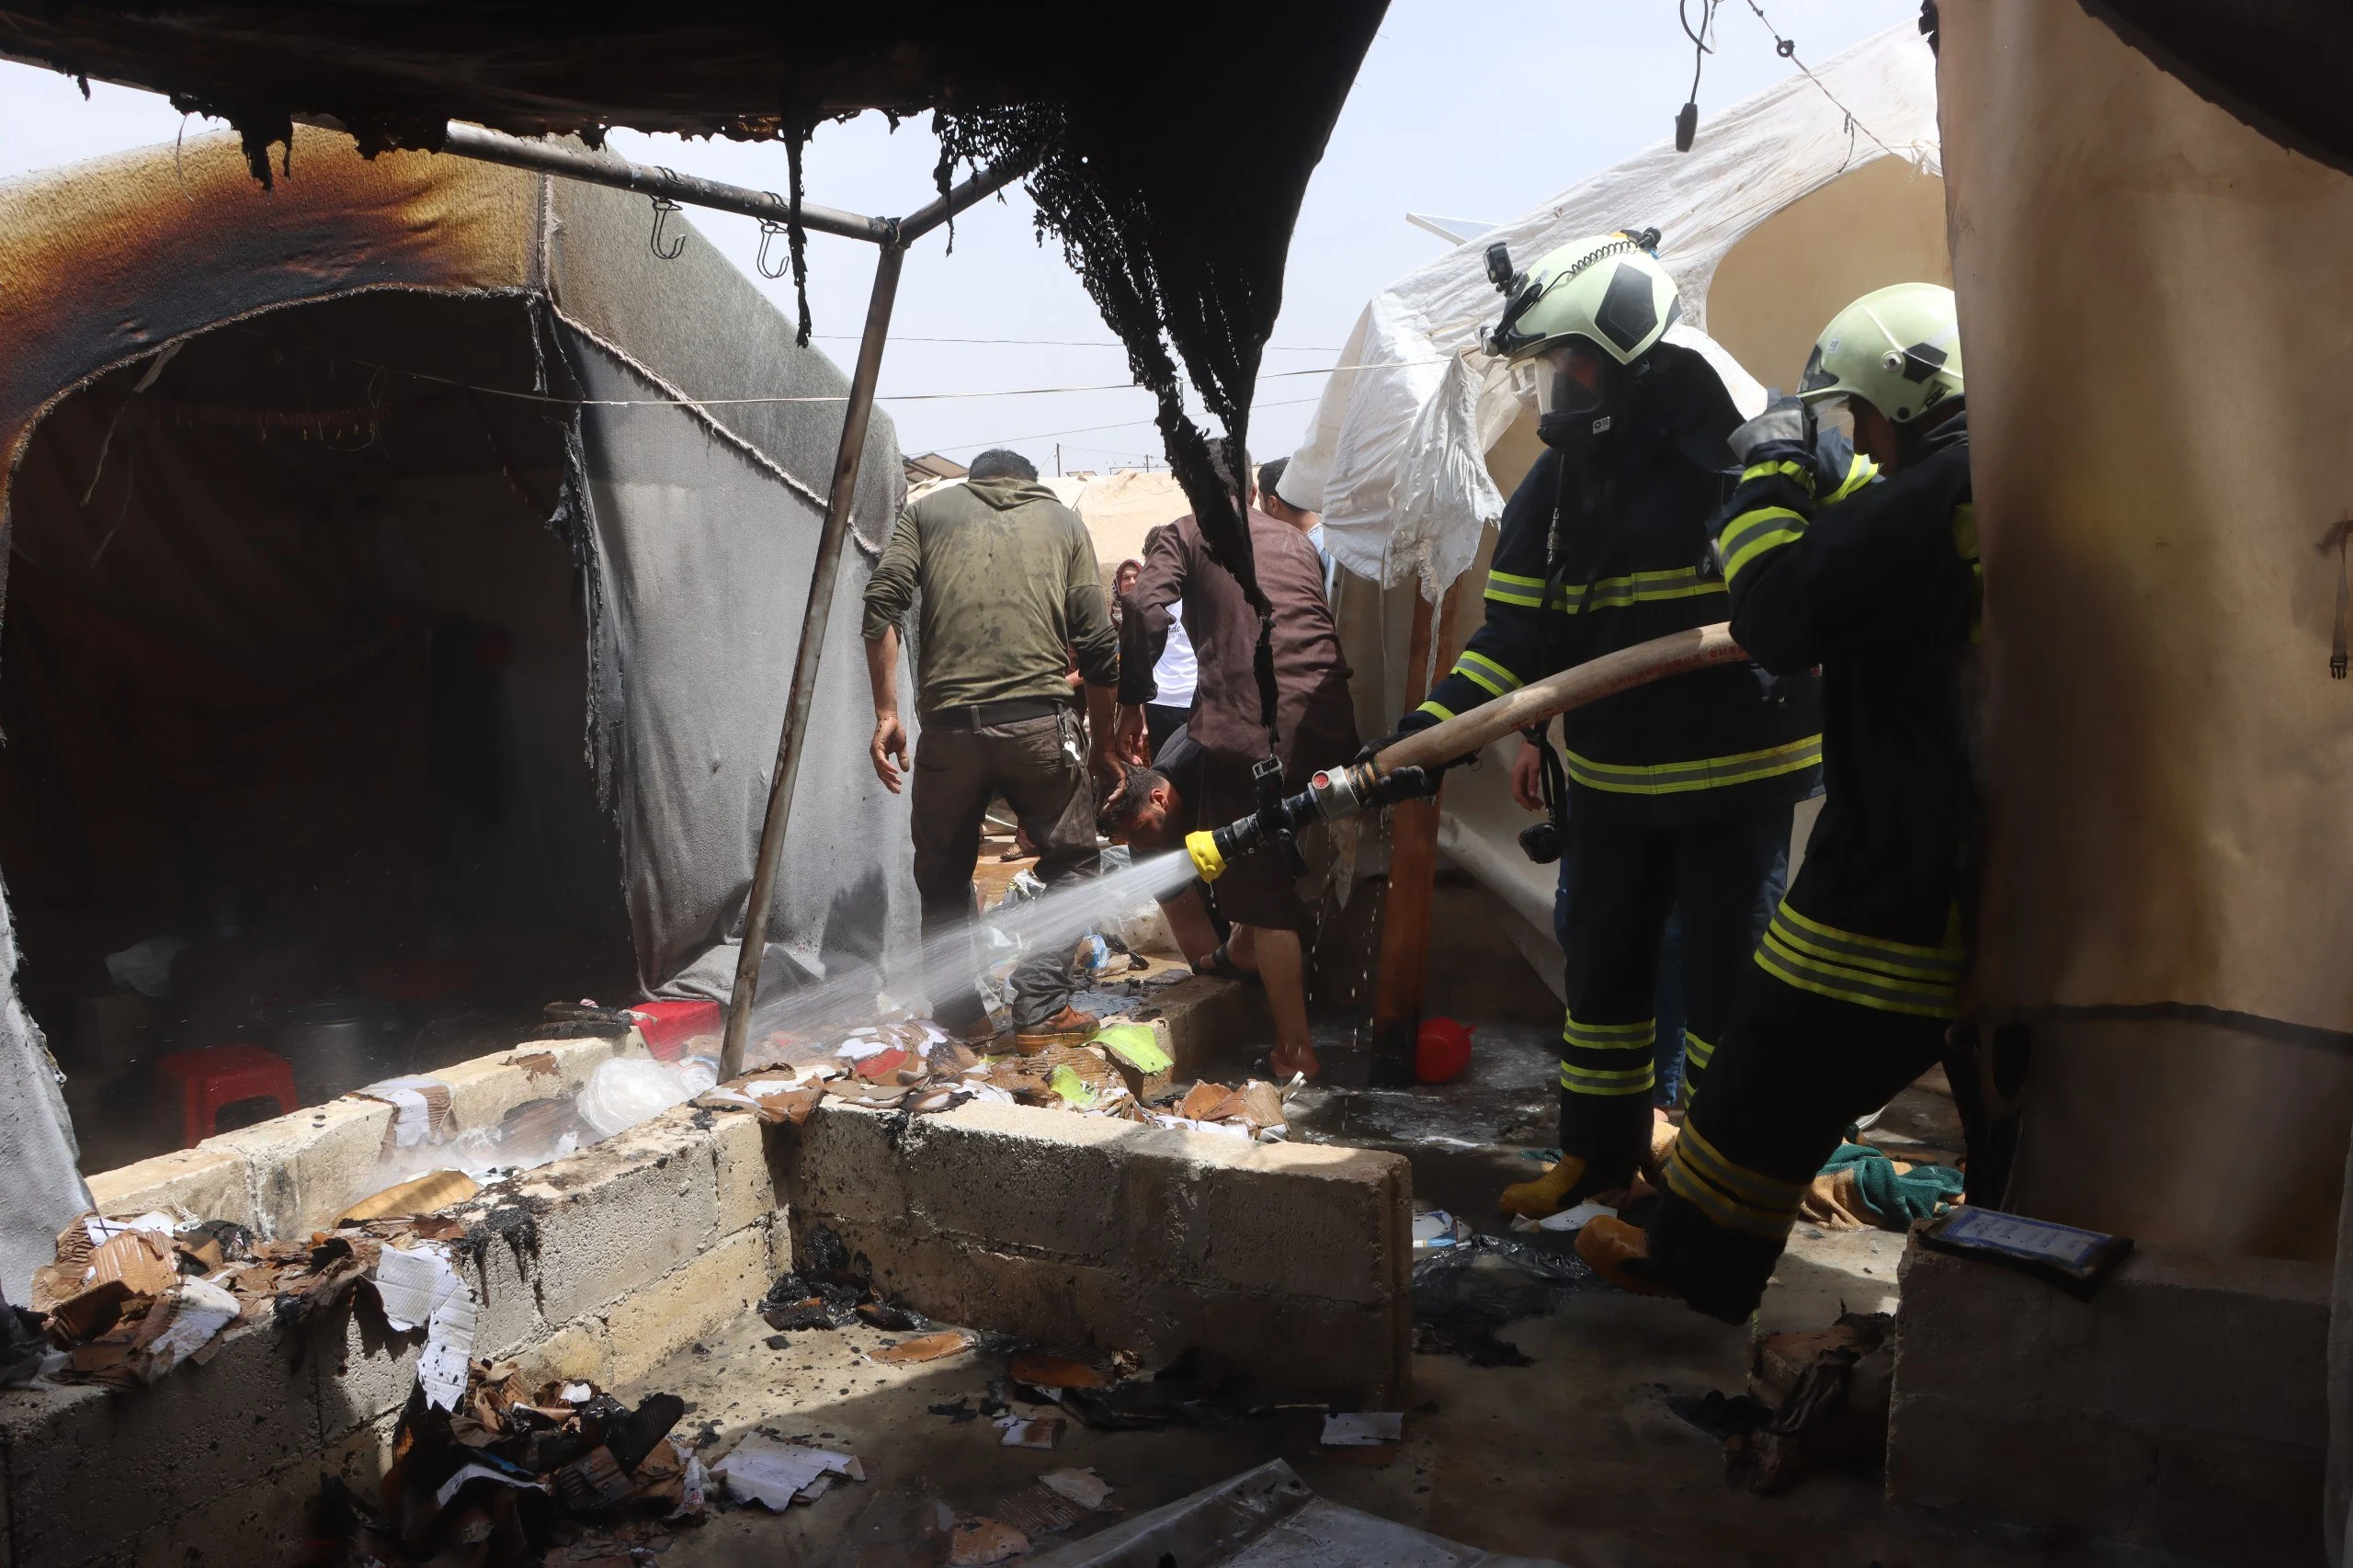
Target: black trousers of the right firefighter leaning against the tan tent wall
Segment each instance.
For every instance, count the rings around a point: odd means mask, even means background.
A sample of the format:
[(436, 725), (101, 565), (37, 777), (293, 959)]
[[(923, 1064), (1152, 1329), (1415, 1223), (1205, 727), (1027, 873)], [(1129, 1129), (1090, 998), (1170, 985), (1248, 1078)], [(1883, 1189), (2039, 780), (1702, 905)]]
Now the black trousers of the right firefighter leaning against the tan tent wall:
[(1849, 1123), (1944, 1057), (1948, 1029), (1753, 970), (1675, 1140), (1649, 1217), (1652, 1267), (1699, 1311), (1755, 1311), (1807, 1182)]

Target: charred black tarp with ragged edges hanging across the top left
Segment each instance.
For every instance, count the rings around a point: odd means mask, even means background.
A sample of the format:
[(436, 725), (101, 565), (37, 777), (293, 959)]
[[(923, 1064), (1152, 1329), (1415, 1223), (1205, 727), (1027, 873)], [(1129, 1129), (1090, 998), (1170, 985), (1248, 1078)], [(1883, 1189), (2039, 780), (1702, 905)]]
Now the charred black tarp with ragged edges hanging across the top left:
[(614, 125), (781, 139), (798, 186), (798, 148), (826, 118), (932, 108), (941, 188), (965, 162), (1028, 165), (1040, 228), (1160, 403), (1169, 466), (1212, 556), (1264, 607), (1249, 530), (1184, 412), (1184, 384), (1247, 445), (1299, 198), (1384, 9), (0, 5), (0, 52), (226, 118), (261, 179), (278, 144), (278, 172), (292, 172), (292, 120), (322, 115), (369, 153), (435, 148), (449, 120), (591, 144)]

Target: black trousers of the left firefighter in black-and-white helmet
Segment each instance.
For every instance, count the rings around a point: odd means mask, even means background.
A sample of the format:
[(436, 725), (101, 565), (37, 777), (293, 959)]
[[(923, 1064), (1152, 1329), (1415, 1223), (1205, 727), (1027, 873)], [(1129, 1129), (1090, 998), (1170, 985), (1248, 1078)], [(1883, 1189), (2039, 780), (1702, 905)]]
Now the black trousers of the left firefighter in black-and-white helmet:
[(1687, 1081), (1732, 1019), (1758, 937), (1788, 876), (1788, 805), (1645, 826), (1579, 796), (1562, 836), (1560, 1151), (1621, 1187), (1649, 1151), (1659, 937), (1682, 916)]

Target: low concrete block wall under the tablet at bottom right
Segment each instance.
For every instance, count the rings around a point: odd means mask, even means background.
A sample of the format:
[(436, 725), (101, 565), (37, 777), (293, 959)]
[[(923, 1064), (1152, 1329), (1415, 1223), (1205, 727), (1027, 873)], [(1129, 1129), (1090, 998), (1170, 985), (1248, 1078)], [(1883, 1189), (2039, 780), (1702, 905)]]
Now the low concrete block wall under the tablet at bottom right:
[(2137, 1250), (2089, 1302), (1913, 1245), (1887, 1495), (2245, 1568), (2322, 1561), (2327, 1264)]

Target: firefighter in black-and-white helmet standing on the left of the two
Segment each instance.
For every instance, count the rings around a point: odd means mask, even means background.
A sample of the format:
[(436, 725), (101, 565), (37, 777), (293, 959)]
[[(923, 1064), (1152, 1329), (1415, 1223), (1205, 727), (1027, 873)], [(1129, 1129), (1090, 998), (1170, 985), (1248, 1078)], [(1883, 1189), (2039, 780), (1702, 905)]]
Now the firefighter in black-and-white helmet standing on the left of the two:
[[(1734, 483), (1725, 438), (1741, 412), (1694, 346), (1706, 339), (1671, 339), (1682, 306), (1657, 242), (1657, 231), (1595, 235), (1527, 273), (1489, 250), (1506, 306), (1487, 348), (1534, 381), (1546, 452), (1504, 509), (1485, 624), (1400, 732), (1725, 619), (1708, 518)], [(1840, 445), (1824, 461), (1847, 457)], [(1817, 680), (1755, 664), (1678, 676), (1569, 713), (1562, 742), (1562, 1158), (1506, 1189), (1518, 1215), (1621, 1189), (1649, 1154), (1652, 996), (1671, 909), (1687, 1057), (1706, 1067), (1779, 897), (1791, 810), (1819, 791)]]

